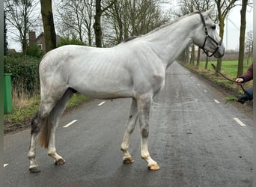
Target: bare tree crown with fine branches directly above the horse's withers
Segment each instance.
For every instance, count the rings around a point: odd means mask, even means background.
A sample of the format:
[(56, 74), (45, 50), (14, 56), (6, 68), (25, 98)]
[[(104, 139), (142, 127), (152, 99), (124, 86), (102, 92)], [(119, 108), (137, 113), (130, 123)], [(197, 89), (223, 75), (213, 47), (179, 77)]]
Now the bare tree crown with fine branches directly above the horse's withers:
[(124, 0), (115, 1), (106, 12), (112, 30), (112, 44), (121, 43), (130, 36), (138, 36), (152, 31), (169, 20), (161, 10), (163, 1)]

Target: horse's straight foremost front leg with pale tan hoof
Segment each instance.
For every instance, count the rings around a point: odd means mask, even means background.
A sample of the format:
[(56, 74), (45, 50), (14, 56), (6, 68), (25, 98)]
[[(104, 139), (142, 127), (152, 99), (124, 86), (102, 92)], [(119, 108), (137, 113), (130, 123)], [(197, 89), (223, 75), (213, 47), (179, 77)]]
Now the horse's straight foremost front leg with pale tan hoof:
[(140, 96), (138, 102), (138, 117), (141, 131), (141, 158), (147, 161), (147, 168), (150, 170), (159, 170), (159, 165), (150, 157), (150, 153), (147, 148), (147, 138), (149, 135), (149, 115), (150, 105), (152, 102), (152, 96), (145, 94)]

